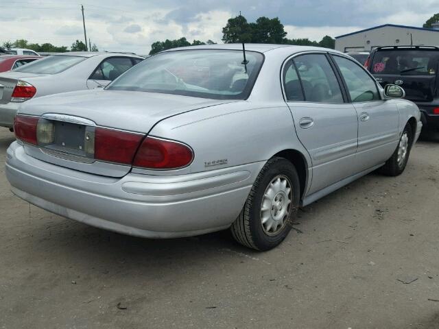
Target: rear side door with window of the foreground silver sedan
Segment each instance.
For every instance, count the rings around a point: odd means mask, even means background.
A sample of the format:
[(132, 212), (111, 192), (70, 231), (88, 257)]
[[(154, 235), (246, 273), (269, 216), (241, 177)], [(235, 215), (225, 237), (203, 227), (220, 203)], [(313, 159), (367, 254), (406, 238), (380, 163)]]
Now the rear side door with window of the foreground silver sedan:
[(306, 53), (289, 60), (284, 69), (284, 90), (297, 136), (312, 160), (308, 193), (353, 175), (357, 112), (346, 103), (327, 55)]

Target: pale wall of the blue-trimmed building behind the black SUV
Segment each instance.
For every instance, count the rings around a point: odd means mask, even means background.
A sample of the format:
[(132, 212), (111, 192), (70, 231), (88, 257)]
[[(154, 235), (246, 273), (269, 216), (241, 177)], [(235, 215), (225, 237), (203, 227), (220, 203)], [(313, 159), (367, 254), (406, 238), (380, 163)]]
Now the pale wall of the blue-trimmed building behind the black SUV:
[(380, 46), (410, 45), (410, 34), (412, 34), (413, 45), (439, 46), (438, 30), (384, 26), (336, 38), (335, 49), (343, 52), (370, 51)]

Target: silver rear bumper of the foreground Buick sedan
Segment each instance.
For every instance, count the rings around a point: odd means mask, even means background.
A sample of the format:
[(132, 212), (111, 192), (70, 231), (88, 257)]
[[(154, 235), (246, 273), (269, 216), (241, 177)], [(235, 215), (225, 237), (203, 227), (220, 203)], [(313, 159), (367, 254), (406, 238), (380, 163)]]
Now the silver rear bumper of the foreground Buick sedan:
[(108, 178), (37, 160), (14, 142), (5, 172), (13, 193), (50, 212), (123, 234), (171, 238), (228, 228), (262, 166)]

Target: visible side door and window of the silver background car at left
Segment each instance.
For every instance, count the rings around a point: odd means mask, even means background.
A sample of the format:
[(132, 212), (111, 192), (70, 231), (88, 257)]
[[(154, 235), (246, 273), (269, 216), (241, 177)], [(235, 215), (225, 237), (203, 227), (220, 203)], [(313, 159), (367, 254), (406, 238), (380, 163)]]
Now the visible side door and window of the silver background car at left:
[(103, 60), (87, 80), (88, 89), (104, 88), (119, 75), (131, 69), (135, 62), (129, 57), (111, 57)]

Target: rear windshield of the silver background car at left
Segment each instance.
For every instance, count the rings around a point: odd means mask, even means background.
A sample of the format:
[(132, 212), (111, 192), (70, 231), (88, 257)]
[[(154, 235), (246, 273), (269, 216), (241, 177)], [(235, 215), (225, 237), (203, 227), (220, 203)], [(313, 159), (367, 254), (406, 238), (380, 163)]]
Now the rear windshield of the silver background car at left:
[(69, 67), (85, 60), (81, 56), (56, 55), (36, 60), (35, 62), (14, 69), (16, 72), (56, 74), (69, 69)]

